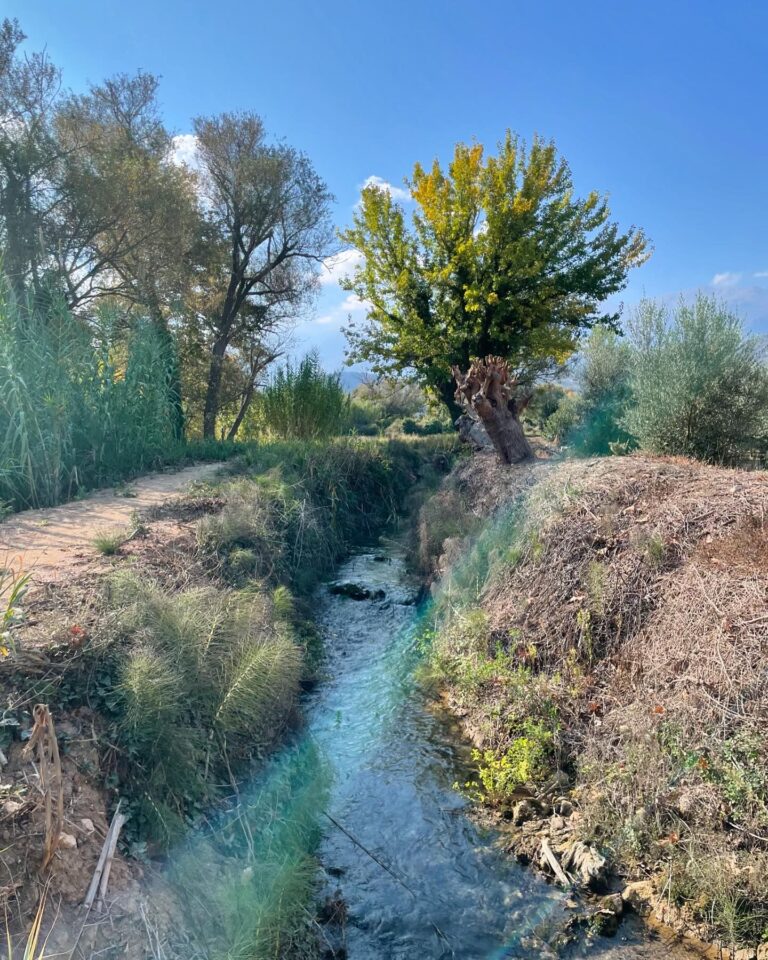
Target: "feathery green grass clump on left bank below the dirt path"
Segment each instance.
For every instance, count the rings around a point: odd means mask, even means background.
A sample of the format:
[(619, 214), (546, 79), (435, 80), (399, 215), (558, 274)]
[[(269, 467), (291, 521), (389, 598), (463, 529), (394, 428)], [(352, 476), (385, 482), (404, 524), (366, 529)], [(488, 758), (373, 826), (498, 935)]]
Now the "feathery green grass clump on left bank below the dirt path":
[(167, 846), (232, 765), (284, 728), (301, 651), (255, 587), (169, 594), (127, 573), (112, 578), (109, 605), (117, 683), (105, 707), (128, 758), (134, 828)]

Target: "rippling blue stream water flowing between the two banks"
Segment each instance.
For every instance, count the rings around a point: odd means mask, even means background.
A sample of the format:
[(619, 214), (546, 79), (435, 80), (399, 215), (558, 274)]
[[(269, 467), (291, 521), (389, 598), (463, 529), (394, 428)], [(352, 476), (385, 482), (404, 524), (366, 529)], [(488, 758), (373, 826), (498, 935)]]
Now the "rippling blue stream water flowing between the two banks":
[[(420, 612), (402, 560), (361, 553), (338, 578), (370, 596), (318, 598), (327, 677), (307, 698), (307, 732), (332, 771), (321, 860), (325, 895), (345, 905), (346, 956), (554, 956), (566, 894), (505, 856), (453, 787), (466, 748), (414, 681)], [(638, 924), (569, 955), (690, 957)]]

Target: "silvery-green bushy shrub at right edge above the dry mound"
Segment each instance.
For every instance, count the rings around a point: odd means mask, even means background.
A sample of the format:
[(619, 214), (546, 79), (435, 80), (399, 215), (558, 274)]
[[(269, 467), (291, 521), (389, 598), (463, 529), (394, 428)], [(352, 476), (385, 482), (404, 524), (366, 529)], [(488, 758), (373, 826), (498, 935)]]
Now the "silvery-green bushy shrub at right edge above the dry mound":
[(631, 323), (632, 404), (624, 423), (656, 453), (729, 462), (766, 442), (761, 342), (713, 297), (674, 313), (643, 303)]

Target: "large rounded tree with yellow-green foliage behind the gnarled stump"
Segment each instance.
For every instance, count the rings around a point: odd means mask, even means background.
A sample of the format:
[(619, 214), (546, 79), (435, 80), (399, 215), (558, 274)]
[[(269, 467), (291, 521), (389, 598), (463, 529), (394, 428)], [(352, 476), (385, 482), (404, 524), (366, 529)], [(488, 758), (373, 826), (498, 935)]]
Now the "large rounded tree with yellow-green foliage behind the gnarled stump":
[(364, 258), (344, 286), (369, 304), (347, 330), (352, 359), (416, 371), (456, 413), (453, 365), (494, 355), (530, 381), (584, 330), (616, 325), (601, 305), (647, 259), (645, 237), (620, 230), (604, 196), (575, 196), (553, 143), (508, 133), (496, 156), (458, 144), (447, 170), (417, 164), (407, 185), (410, 223), (371, 186), (342, 233)]

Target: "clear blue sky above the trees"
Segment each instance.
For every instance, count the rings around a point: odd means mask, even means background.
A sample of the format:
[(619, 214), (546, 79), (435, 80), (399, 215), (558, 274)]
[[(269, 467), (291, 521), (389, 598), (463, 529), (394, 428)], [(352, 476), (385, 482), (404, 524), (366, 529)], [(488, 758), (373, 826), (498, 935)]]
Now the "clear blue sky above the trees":
[[(716, 289), (768, 332), (768, 4), (759, 0), (4, 0), (65, 85), (141, 67), (168, 125), (253, 109), (304, 149), (349, 221), (369, 177), (510, 127), (555, 139), (581, 191), (642, 226), (621, 299)], [(761, 276), (762, 274), (762, 276)], [(346, 294), (297, 331), (340, 364)]]

